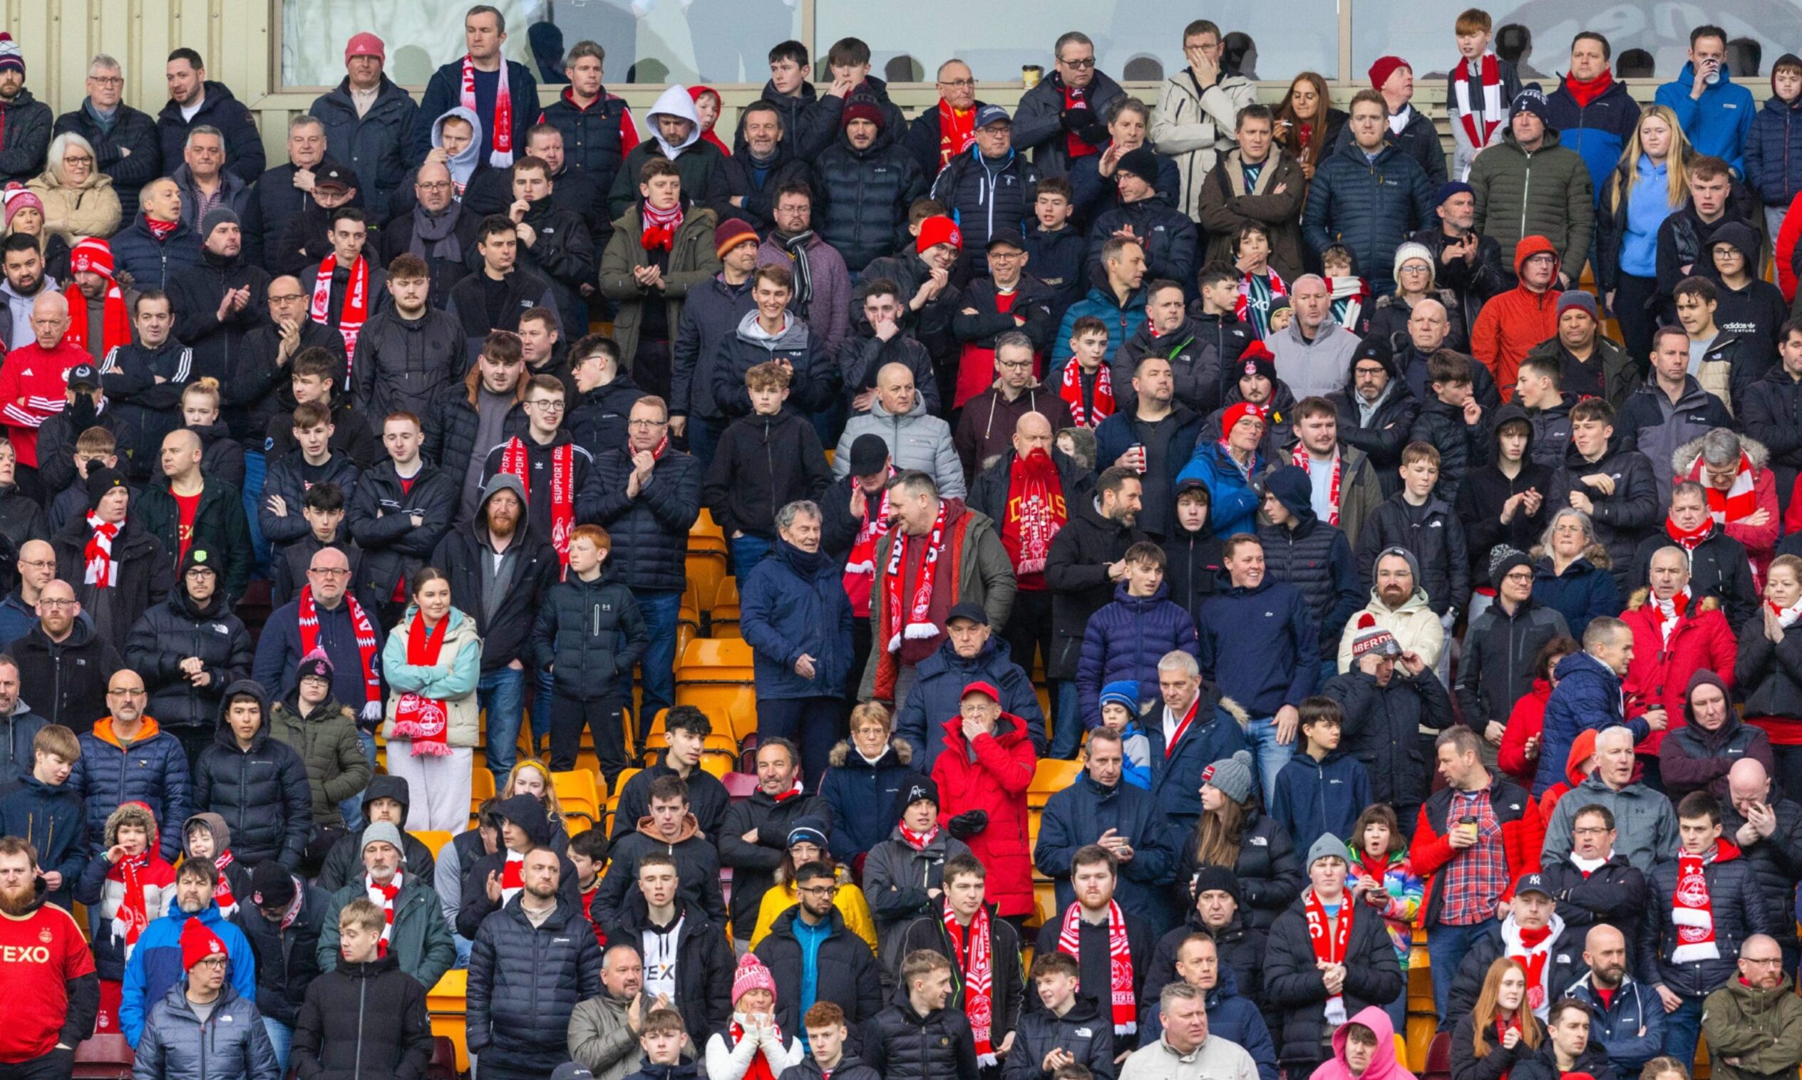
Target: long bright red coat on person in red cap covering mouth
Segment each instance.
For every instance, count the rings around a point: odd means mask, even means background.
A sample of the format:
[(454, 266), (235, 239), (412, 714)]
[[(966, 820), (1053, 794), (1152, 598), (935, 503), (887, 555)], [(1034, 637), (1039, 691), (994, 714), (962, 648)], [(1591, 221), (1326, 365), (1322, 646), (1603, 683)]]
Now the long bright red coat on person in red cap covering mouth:
[(1033, 913), (1033, 844), (1027, 839), (1025, 788), (1033, 785), (1038, 754), (1025, 736), (1025, 722), (1002, 713), (995, 734), (977, 736), (977, 760), (969, 760), (964, 722), (944, 722), (944, 749), (932, 763), (939, 785), (939, 821), (982, 810), (989, 824), (962, 837), (969, 853), (989, 869), (987, 902), (998, 914)]

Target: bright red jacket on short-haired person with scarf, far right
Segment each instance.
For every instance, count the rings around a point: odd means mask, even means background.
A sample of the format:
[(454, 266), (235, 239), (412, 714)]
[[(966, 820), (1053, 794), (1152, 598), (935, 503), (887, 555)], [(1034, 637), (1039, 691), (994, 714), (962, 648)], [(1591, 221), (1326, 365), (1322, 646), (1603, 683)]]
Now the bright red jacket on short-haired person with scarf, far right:
[[(1714, 596), (1703, 598), (1699, 603), (1690, 601), (1690, 610), (1670, 630), (1669, 643), (1660, 632), (1663, 619), (1658, 614), (1658, 605), (1647, 599), (1645, 590), (1633, 594), (1620, 617), (1633, 628), (1633, 662), (1627, 666), (1627, 679), (1622, 680), (1629, 718), (1663, 707), (1669, 729), (1683, 727), (1683, 688), (1688, 686), (1688, 677), (1701, 668), (1708, 668), (1726, 682), (1730, 691), (1734, 689), (1739, 639), (1721, 612), (1721, 601)], [(1642, 754), (1656, 754), (1663, 742), (1665, 733), (1654, 731), (1634, 749)]]

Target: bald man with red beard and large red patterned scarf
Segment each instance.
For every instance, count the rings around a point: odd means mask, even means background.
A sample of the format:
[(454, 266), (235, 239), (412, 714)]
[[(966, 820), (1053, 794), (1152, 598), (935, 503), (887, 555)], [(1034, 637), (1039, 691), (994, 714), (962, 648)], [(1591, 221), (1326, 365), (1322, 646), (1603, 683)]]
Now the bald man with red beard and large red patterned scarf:
[[(1063, 405), (1063, 401), (1058, 401)], [(969, 412), (966, 410), (968, 418)], [(969, 488), (969, 506), (995, 520), (1004, 538), (1043, 536), (1036, 542), (1004, 544), (1015, 569), (1018, 592), (1002, 626), (1013, 662), (1033, 670), (1033, 650), (1051, 664), (1051, 592), (1045, 589), (1045, 554), (1069, 520), (1069, 508), (1090, 499), (1094, 479), (1052, 443), (1056, 432), (1043, 412), (1024, 412), (1015, 421), (1013, 445), (982, 470)], [(1015, 463), (1024, 463), (1015, 475)], [(1033, 524), (1033, 527), (1027, 527)]]

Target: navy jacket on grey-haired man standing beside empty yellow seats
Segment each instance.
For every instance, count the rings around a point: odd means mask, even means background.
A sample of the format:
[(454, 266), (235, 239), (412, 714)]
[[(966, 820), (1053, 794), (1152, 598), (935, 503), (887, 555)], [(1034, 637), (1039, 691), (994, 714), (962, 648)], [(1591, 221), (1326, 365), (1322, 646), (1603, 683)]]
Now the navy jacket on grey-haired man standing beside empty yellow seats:
[[(739, 590), (739, 628), (753, 650), (759, 698), (843, 693), (851, 673), (851, 598), (842, 578), (838, 560), (787, 540), (777, 540), (769, 558), (751, 567)], [(813, 679), (795, 671), (802, 655), (813, 657)]]

